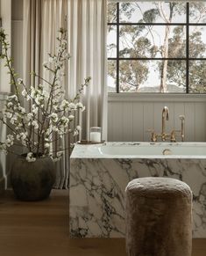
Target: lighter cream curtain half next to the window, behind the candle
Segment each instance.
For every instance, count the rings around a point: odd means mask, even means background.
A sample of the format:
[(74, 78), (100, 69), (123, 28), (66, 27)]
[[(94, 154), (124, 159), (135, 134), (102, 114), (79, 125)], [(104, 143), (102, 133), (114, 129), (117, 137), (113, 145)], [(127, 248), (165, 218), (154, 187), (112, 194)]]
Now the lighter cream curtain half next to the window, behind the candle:
[(68, 0), (69, 52), (72, 55), (68, 94), (74, 96), (84, 77), (91, 77), (82, 95), (82, 139), (89, 139), (89, 127), (103, 128), (107, 139), (107, 1)]

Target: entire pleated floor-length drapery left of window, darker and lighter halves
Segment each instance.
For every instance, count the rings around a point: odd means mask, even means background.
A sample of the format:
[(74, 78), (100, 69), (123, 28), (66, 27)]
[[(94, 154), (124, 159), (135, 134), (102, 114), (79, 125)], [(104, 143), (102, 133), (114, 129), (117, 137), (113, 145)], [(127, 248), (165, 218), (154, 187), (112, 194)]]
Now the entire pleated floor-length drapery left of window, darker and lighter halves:
[[(89, 139), (89, 127), (103, 128), (103, 139), (107, 137), (107, 93), (106, 93), (106, 0), (24, 0), (23, 25), (23, 79), (25, 84), (35, 86), (43, 81), (30, 77), (35, 71), (49, 78), (43, 68), (48, 53), (56, 48), (56, 37), (60, 27), (67, 27), (68, 52), (72, 55), (66, 70), (66, 97), (73, 99), (84, 78), (92, 77), (88, 88), (82, 93), (86, 111), (80, 116), (82, 138)], [(66, 21), (66, 17), (67, 21)], [(46, 84), (45, 84), (46, 85)], [(28, 104), (25, 102), (25, 106)], [(31, 106), (26, 106), (31, 107)], [(76, 123), (77, 124), (77, 123)], [(68, 148), (68, 136), (61, 142)], [(67, 188), (69, 151), (56, 164), (55, 188)]]

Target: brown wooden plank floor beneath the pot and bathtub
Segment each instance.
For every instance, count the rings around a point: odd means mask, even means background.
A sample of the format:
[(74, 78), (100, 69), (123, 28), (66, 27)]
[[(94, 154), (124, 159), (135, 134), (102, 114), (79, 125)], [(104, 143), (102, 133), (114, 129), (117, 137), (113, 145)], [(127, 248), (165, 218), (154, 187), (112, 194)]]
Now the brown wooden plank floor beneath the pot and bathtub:
[[(39, 202), (0, 195), (0, 256), (126, 256), (124, 239), (69, 238), (67, 193)], [(206, 239), (194, 239), (192, 256), (206, 256)]]

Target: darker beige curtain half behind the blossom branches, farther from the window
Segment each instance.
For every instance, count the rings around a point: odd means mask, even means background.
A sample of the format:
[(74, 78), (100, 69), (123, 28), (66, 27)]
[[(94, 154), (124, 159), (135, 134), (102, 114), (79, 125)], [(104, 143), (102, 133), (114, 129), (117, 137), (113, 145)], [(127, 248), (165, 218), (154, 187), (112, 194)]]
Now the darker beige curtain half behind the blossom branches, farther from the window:
[[(29, 86), (44, 84), (41, 80), (32, 79), (29, 74), (35, 71), (41, 77), (48, 76), (42, 69), (43, 62), (48, 60), (48, 53), (54, 53), (58, 30), (67, 25), (66, 17), (67, 0), (24, 1), (23, 78), (25, 84)], [(66, 152), (61, 161), (56, 164), (57, 179), (54, 187), (67, 188), (68, 165), (68, 152)]]

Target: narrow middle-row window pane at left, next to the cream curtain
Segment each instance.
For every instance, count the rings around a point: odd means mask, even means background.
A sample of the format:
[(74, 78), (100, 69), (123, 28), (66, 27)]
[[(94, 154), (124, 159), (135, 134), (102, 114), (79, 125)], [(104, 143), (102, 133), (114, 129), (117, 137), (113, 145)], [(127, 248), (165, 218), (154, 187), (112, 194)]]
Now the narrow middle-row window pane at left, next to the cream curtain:
[(108, 26), (107, 55), (108, 58), (117, 57), (117, 26)]

